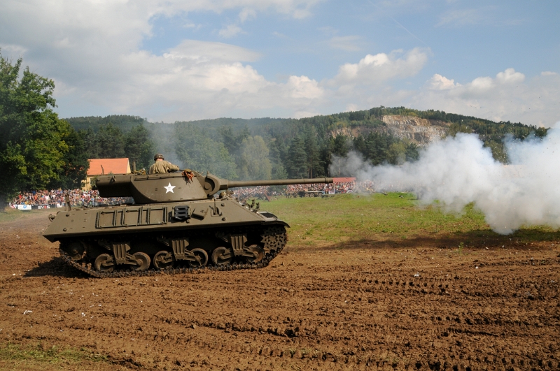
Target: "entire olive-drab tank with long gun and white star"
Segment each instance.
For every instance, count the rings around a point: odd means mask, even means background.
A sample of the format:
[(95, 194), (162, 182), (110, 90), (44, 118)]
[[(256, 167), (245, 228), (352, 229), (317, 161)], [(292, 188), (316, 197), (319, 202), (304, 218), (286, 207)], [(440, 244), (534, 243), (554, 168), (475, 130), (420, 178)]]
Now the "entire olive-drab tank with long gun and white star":
[(230, 188), (332, 183), (332, 178), (232, 181), (196, 171), (97, 178), (102, 197), (134, 203), (50, 215), (43, 236), (94, 277), (262, 268), (288, 241), (285, 221)]

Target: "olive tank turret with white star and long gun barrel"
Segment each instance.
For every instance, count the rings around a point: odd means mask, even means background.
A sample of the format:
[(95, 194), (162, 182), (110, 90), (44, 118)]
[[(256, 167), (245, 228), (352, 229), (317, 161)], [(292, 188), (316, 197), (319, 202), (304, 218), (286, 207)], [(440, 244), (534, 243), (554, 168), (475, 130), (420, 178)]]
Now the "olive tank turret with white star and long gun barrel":
[(97, 178), (97, 189), (102, 197), (132, 197), (134, 203), (172, 203), (213, 198), (219, 191), (235, 187), (267, 185), (332, 183), (332, 177), (279, 180), (225, 180), (210, 173), (197, 171), (136, 175), (102, 175)]

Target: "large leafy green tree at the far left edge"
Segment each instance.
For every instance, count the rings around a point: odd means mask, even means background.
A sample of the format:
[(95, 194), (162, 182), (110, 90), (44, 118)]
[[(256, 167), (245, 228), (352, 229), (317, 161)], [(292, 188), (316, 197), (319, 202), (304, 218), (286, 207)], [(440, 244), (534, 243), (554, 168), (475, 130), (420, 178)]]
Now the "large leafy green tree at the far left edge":
[[(52, 110), (55, 83), (0, 54), (0, 208), (18, 191), (60, 179), (73, 129)], [(71, 140), (69, 140), (71, 141)], [(75, 170), (66, 168), (66, 170)]]

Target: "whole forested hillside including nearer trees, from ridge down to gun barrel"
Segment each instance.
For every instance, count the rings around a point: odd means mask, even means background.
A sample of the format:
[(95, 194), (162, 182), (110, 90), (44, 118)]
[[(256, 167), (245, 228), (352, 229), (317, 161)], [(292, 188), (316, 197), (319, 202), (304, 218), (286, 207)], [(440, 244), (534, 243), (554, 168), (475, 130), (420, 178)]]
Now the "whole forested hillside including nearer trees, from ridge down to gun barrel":
[(329, 175), (333, 159), (350, 151), (373, 165), (415, 161), (420, 147), (458, 132), (476, 133), (496, 160), (507, 163), (505, 136), (524, 140), (547, 133), (520, 122), (404, 107), (302, 119), (221, 117), (164, 123), (113, 115), (67, 121), (82, 133), (90, 159), (129, 157), (147, 167), (153, 152), (159, 152), (183, 168), (209, 170), (231, 179)]

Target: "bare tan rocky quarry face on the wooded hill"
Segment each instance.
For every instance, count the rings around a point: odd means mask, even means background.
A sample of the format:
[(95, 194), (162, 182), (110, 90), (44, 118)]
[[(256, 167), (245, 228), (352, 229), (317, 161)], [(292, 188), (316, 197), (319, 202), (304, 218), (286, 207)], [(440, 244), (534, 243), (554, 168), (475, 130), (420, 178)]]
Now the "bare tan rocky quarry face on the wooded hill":
[(433, 140), (447, 136), (449, 122), (435, 119), (421, 119), (414, 116), (386, 115), (381, 121), (384, 126), (375, 128), (368, 126), (355, 126), (338, 129), (333, 136), (344, 135), (356, 137), (360, 134), (367, 136), (371, 132), (387, 133), (400, 139), (407, 139), (416, 145), (425, 146)]

